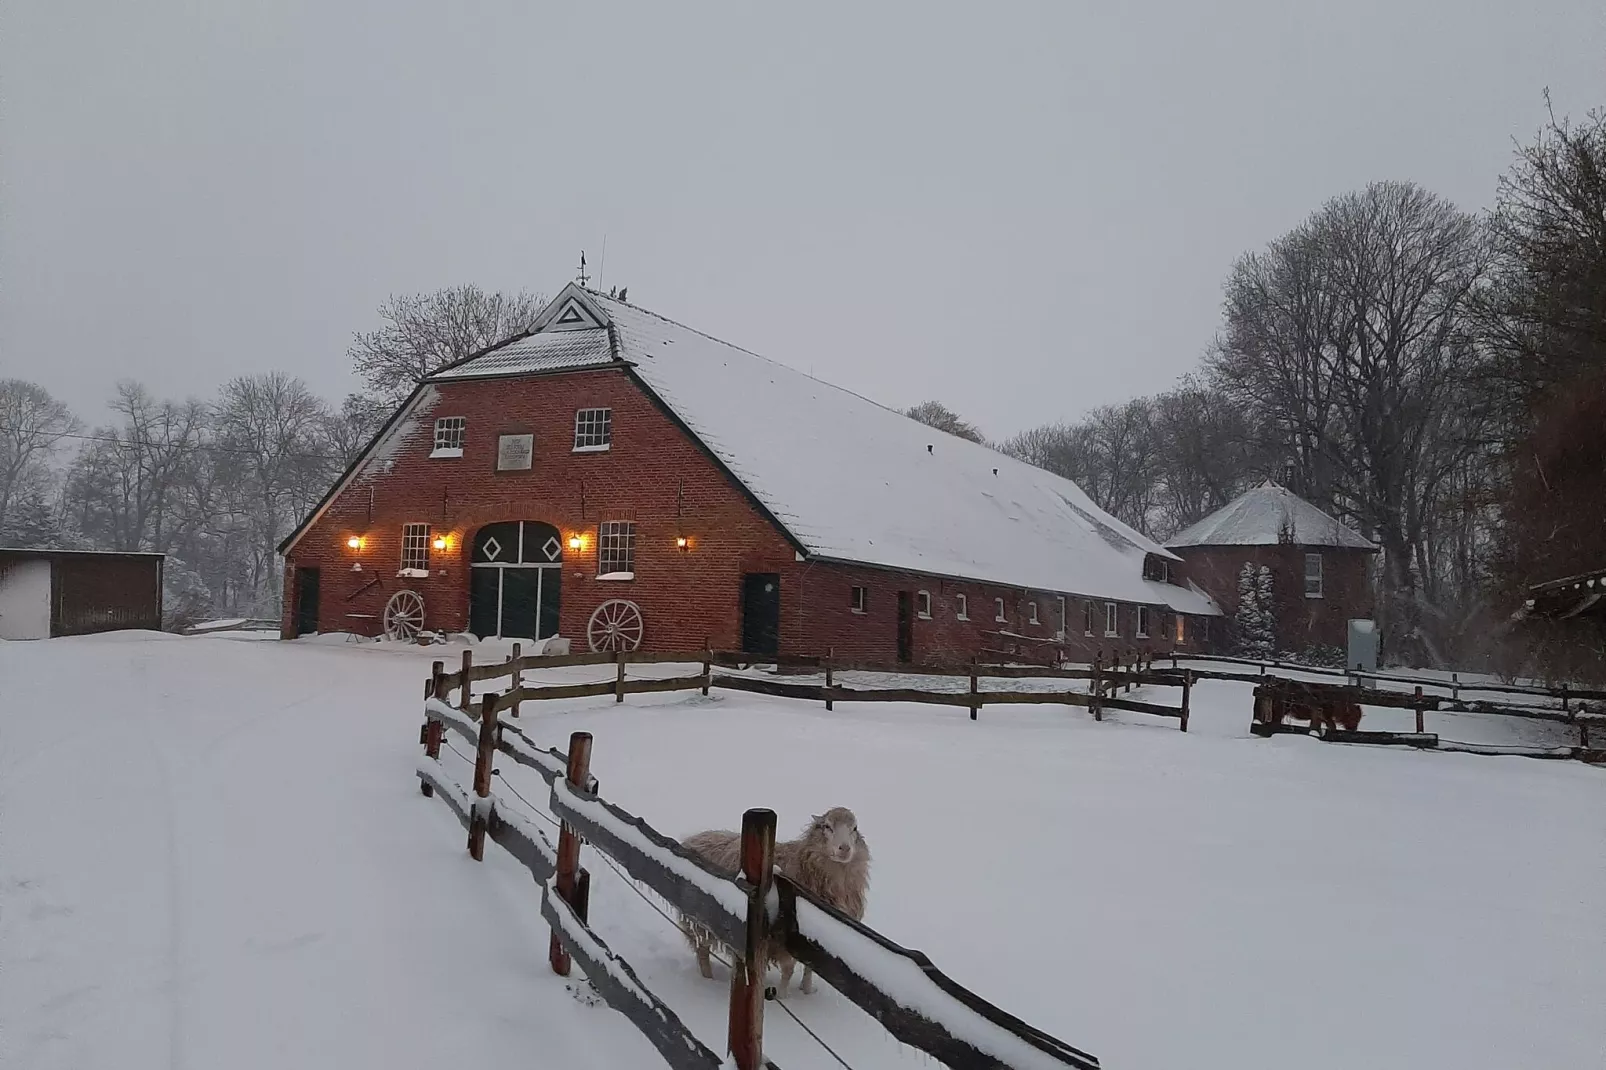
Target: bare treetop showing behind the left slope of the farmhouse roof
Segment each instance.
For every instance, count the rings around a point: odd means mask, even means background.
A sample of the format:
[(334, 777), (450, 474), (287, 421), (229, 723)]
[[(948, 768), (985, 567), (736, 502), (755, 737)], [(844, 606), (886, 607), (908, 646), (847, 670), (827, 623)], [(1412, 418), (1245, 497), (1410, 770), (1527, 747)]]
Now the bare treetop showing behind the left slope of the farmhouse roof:
[(385, 326), (358, 333), (347, 350), (357, 374), (397, 403), (454, 360), (530, 329), (544, 299), (453, 286), (434, 294), (392, 296), (379, 307)]

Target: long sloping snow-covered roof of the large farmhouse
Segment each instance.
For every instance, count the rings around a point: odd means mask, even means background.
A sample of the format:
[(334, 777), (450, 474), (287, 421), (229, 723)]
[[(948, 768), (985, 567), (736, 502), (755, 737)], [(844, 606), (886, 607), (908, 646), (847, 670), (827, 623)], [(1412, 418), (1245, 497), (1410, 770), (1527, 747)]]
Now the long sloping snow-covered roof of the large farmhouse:
[(535, 334), (434, 381), (581, 352), (626, 361), (811, 557), (1219, 612), (1196, 588), (1145, 580), (1145, 554), (1176, 554), (1071, 480), (573, 284)]

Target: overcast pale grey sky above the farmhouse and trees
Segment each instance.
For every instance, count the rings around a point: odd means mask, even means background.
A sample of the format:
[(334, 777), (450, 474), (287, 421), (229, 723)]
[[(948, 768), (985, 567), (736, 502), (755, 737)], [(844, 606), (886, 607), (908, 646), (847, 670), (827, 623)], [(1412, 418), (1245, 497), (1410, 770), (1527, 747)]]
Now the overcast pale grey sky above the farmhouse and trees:
[[(605, 6), (605, 10), (604, 10)], [(390, 292), (631, 300), (994, 435), (1160, 389), (1373, 178), (1490, 202), (1600, 0), (10, 0), (0, 374), (339, 397)]]

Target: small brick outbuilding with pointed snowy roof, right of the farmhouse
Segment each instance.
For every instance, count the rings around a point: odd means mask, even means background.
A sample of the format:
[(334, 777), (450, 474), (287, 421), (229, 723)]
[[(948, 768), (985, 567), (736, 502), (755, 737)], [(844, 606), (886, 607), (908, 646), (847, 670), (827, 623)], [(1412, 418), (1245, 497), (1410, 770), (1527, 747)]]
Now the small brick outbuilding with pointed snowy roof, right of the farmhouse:
[(1344, 651), (1349, 622), (1372, 619), (1378, 546), (1286, 487), (1266, 480), (1166, 543), (1232, 620), (1243, 566), (1272, 574), (1278, 651)]

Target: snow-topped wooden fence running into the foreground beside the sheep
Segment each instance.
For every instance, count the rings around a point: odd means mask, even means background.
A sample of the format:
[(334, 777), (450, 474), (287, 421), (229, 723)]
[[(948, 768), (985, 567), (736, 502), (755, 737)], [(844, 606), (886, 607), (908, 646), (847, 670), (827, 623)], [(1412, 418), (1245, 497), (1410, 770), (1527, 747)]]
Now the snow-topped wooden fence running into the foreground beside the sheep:
[[(424, 795), (438, 795), (458, 816), (469, 832), (474, 860), (483, 858), (483, 843), (490, 839), (530, 869), (541, 885), (541, 916), (552, 927), (552, 970), (567, 977), (570, 959), (578, 959), (597, 994), (630, 1019), (675, 1070), (716, 1070), (728, 1064), (699, 1041), (593, 930), (588, 916), (591, 882), (580, 866), (581, 842), (737, 950), (726, 1049), (739, 1070), (774, 1067), (761, 1051), (763, 982), (772, 938), (784, 940), (793, 958), (813, 967), (895, 1038), (948, 1067), (1099, 1070), (1094, 1056), (1001, 1011), (952, 982), (919, 951), (840, 914), (774, 872), (774, 811), (744, 815), (742, 872), (721, 874), (597, 795), (589, 733), (573, 733), (569, 753), (543, 750), (517, 726), (499, 720), (506, 696), (482, 696), (477, 710), (464, 712), (446, 702), (446, 676), (437, 673), (424, 702), (426, 755), (418, 763), (419, 789)], [(472, 794), (442, 771), (438, 757), (446, 731), (474, 741)], [(556, 848), (541, 829), (491, 790), (496, 753), (535, 770), (549, 782), (548, 803), (560, 823)]]

